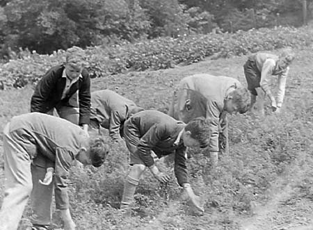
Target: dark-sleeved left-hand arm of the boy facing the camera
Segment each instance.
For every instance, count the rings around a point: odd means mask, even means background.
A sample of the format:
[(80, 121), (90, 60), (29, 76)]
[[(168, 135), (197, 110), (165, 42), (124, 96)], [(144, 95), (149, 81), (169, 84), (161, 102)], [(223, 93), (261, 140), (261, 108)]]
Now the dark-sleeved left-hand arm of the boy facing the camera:
[(42, 76), (42, 79), (38, 82), (31, 97), (31, 113), (46, 113), (47, 108), (43, 108), (45, 102), (47, 101), (49, 95), (56, 85), (57, 77), (53, 70), (47, 72), (45, 76)]

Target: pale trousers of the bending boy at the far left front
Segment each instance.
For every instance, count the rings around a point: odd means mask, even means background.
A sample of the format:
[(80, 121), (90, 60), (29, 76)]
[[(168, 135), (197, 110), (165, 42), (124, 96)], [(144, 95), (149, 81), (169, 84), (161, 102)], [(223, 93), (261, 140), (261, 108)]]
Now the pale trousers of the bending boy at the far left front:
[(31, 157), (25, 144), (9, 133), (9, 124), (3, 133), (4, 198), (0, 209), (0, 230), (15, 230), (22, 218), (33, 188)]

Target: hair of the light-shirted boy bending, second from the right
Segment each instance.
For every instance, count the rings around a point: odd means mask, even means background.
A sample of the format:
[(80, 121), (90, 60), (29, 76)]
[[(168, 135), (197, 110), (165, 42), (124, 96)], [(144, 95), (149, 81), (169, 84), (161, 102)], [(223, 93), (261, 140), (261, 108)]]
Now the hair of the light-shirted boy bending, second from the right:
[(238, 106), (239, 113), (246, 113), (250, 107), (250, 92), (248, 89), (238, 87), (230, 93), (232, 101)]

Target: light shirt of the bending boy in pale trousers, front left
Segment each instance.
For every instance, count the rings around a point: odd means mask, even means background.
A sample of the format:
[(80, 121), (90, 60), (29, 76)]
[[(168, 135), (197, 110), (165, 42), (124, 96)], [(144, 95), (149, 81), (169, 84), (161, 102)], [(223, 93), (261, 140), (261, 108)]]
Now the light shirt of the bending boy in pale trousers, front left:
[(42, 113), (13, 117), (10, 135), (35, 159), (42, 154), (54, 167), (56, 208), (67, 209), (67, 175), (79, 149), (88, 149), (88, 135), (79, 126)]

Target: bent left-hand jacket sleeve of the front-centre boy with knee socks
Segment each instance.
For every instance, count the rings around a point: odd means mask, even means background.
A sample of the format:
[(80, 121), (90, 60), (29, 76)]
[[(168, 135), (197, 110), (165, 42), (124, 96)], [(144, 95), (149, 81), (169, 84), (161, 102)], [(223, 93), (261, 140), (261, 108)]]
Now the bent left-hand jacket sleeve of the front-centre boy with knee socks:
[(137, 151), (145, 166), (150, 167), (154, 164), (150, 151), (166, 135), (165, 132), (166, 127), (163, 124), (154, 124), (139, 140)]

